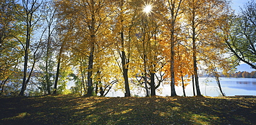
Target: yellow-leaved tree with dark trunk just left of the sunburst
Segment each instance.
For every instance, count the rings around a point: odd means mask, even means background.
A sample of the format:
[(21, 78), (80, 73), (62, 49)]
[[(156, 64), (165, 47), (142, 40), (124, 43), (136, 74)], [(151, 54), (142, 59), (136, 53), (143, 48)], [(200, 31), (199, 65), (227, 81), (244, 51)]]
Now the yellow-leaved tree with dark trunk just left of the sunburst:
[[(125, 82), (125, 97), (130, 97), (129, 69), (131, 69), (131, 60), (134, 57), (133, 47), (136, 35), (135, 22), (138, 16), (138, 1), (118, 0), (116, 1), (116, 17), (113, 28), (116, 41), (116, 51), (120, 61), (116, 58), (122, 77)], [(115, 54), (116, 55), (116, 54)]]

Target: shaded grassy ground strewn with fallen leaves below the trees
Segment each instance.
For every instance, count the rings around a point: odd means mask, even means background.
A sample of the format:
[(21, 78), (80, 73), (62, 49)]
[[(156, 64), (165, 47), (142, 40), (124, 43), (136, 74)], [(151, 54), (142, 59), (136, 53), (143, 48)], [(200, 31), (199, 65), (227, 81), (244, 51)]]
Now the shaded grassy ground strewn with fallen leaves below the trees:
[(0, 124), (256, 124), (256, 98), (0, 98)]

